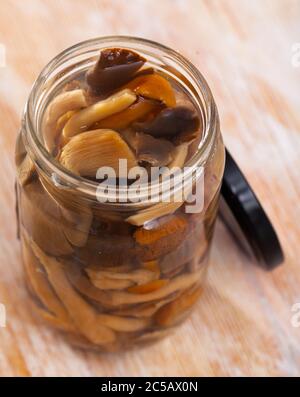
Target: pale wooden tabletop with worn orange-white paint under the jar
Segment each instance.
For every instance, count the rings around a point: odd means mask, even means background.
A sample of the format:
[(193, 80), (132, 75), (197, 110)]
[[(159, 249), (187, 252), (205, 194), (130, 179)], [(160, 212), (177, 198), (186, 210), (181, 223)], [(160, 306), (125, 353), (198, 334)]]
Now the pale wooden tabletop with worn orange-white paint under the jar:
[[(1, 375), (300, 375), (300, 328), (291, 323), (300, 302), (300, 67), (292, 65), (299, 20), (299, 0), (1, 1)], [(208, 286), (191, 318), (154, 347), (100, 356), (73, 350), (31, 314), (15, 231), (13, 150), (43, 65), (71, 44), (108, 34), (157, 40), (200, 68), (226, 145), (274, 222), (286, 261), (264, 272), (219, 222)]]

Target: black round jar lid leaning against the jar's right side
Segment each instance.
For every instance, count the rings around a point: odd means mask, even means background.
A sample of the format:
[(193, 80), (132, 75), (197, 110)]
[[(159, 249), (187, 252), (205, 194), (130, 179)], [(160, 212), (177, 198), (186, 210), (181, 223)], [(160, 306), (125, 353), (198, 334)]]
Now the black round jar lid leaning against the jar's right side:
[(277, 234), (247, 179), (226, 150), (220, 213), (238, 243), (265, 269), (284, 260)]

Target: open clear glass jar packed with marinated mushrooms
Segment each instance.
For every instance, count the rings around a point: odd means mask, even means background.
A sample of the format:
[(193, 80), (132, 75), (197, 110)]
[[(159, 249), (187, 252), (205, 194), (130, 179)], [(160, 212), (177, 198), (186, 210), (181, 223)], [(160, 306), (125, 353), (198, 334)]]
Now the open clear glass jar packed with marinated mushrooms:
[[(45, 149), (47, 105), (108, 47), (146, 57), (198, 110), (203, 135), (186, 166), (204, 170), (201, 211), (187, 212), (184, 201), (101, 202), (96, 182), (72, 174)], [(201, 297), (224, 158), (210, 89), (177, 52), (120, 36), (89, 40), (54, 58), (32, 88), (16, 145), (19, 234), (37, 315), (76, 346), (99, 351), (148, 344), (173, 331)]]

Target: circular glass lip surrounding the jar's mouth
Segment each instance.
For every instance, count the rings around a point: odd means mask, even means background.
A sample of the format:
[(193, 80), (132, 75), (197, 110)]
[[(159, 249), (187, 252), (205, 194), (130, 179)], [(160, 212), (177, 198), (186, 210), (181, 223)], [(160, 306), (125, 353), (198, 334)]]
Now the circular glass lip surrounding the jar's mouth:
[[(75, 189), (88, 199), (95, 200), (98, 183), (73, 174), (63, 167), (45, 148), (40, 140), (40, 121), (43, 106), (49, 99), (49, 87), (57, 81), (57, 76), (71, 73), (72, 60), (77, 57), (76, 65), (91, 65), (99, 55), (99, 51), (108, 47), (124, 47), (142, 52), (158, 60), (162, 69), (166, 66), (177, 71), (185, 78), (186, 84), (193, 92), (194, 101), (202, 112), (203, 135), (195, 154), (187, 161), (185, 167), (196, 169), (205, 164), (212, 148), (218, 126), (218, 114), (211, 90), (200, 71), (179, 52), (144, 38), (132, 36), (105, 36), (82, 41), (75, 44), (53, 58), (41, 71), (34, 82), (22, 119), (24, 144), (39, 171), (53, 184), (61, 189)], [(87, 58), (88, 57), (88, 58)], [(170, 74), (171, 75), (171, 74)], [(179, 78), (178, 81), (181, 79)], [(191, 171), (189, 171), (191, 172)], [(160, 184), (160, 182), (158, 183)], [(174, 181), (174, 185), (176, 181)], [(139, 203), (143, 205), (143, 203)], [(114, 204), (115, 205), (115, 204)], [(122, 206), (127, 203), (122, 203)], [(131, 205), (131, 203), (129, 204)], [(137, 203), (134, 204), (136, 206)]]

